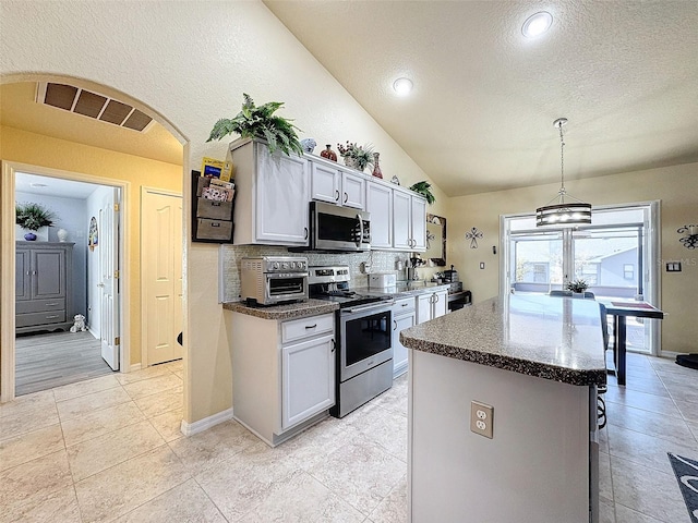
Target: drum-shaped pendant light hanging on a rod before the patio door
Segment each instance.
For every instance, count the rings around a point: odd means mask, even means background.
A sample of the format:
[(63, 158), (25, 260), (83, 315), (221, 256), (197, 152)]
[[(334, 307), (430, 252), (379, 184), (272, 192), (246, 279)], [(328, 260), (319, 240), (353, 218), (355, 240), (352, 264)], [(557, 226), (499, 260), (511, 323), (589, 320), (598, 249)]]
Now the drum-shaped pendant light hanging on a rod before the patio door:
[[(558, 118), (553, 122), (553, 125), (559, 129), (561, 186), (556, 197), (535, 209), (537, 227), (576, 227), (591, 223), (591, 205), (569, 196), (565, 191), (565, 139), (563, 137), (563, 125), (566, 123), (566, 118)], [(574, 202), (565, 202), (565, 198)]]

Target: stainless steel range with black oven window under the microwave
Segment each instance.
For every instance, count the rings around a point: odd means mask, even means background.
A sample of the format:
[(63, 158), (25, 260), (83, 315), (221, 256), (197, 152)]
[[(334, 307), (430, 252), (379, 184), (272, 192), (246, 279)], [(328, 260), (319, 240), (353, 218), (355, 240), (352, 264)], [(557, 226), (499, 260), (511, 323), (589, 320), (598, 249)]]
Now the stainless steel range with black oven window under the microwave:
[(310, 296), (339, 304), (337, 391), (329, 411), (344, 417), (393, 386), (393, 299), (349, 290), (347, 266), (311, 267)]

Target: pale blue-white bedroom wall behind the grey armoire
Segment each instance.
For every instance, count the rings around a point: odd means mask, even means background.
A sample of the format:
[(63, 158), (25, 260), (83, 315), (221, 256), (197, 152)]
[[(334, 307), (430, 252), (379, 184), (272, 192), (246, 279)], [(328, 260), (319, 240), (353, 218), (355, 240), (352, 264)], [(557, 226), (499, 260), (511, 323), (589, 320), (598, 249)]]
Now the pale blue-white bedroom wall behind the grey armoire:
[[(85, 229), (86, 202), (81, 198), (60, 198), (44, 194), (28, 194), (20, 191), (14, 193), (17, 202), (33, 202), (41, 204), (53, 211), (56, 219), (53, 227), (45, 228), (47, 236), (37, 233), (37, 241), (58, 242), (56, 235), (59, 229), (68, 231), (68, 242), (74, 242), (73, 266), (73, 311), (68, 311), (69, 318), (74, 314), (85, 314), (87, 309), (87, 229)], [(23, 239), (24, 232), (17, 239)]]

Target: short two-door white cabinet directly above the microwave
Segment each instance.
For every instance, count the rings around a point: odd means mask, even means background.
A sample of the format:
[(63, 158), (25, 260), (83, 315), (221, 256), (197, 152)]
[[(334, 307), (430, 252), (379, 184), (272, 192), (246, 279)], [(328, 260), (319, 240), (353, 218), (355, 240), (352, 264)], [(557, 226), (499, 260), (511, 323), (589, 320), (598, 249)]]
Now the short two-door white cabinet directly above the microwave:
[(334, 162), (311, 159), (311, 198), (365, 209), (365, 178)]

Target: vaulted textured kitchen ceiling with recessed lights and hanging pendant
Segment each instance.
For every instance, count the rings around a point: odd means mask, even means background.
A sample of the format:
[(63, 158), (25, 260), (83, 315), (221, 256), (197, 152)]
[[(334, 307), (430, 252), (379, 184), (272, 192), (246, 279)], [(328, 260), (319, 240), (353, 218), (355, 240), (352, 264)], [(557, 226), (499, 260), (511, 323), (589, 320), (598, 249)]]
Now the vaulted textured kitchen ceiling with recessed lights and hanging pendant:
[(449, 196), (698, 161), (698, 1), (264, 3)]

